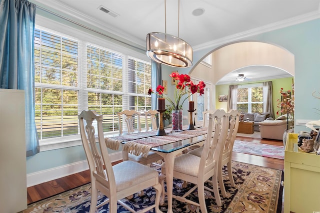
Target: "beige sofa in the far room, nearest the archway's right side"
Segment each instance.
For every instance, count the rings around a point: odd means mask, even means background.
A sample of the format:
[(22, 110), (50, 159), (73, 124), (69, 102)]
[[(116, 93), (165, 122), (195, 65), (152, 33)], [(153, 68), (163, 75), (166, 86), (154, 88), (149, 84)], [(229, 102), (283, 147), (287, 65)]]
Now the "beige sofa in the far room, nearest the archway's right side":
[(259, 124), (260, 136), (265, 139), (283, 140), (283, 133), (293, 125), (290, 120), (287, 120), (286, 115), (281, 115), (273, 121), (262, 121)]

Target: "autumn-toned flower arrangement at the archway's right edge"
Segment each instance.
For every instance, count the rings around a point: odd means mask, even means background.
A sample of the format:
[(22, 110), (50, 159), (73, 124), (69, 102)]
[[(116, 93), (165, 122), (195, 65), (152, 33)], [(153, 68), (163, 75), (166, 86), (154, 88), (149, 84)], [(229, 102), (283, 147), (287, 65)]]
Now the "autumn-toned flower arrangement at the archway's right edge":
[[(291, 94), (290, 94), (291, 93)], [(292, 90), (283, 91), (280, 89), (281, 99), (277, 99), (277, 107), (280, 108), (276, 114), (279, 112), (282, 114), (287, 114), (288, 119), (293, 123), (294, 121), (294, 84), (292, 84)]]

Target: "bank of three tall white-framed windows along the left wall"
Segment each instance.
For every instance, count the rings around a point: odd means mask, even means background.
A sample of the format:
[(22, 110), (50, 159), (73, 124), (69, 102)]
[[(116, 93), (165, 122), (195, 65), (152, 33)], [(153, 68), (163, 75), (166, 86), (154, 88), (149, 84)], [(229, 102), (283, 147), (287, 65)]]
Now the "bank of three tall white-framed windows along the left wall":
[[(151, 65), (37, 27), (34, 38), (35, 124), (39, 139), (79, 134), (77, 115), (95, 110), (103, 131), (118, 131), (117, 112), (151, 108)], [(41, 142), (40, 142), (41, 143)]]

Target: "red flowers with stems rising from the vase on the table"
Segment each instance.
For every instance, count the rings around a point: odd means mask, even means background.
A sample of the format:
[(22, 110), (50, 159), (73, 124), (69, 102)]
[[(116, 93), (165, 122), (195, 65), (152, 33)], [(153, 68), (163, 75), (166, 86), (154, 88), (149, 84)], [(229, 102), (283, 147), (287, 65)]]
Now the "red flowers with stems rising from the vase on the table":
[(204, 94), (205, 83), (203, 81), (200, 81), (198, 84), (194, 84), (190, 80), (189, 75), (179, 74), (178, 72), (172, 72), (169, 76), (174, 79), (175, 83), (173, 99), (170, 99), (167, 95), (163, 94), (165, 88), (162, 85), (158, 85), (155, 92), (149, 88), (148, 94), (151, 95), (151, 93), (155, 93), (166, 99), (169, 101), (173, 110), (180, 110), (184, 101), (192, 94), (197, 92), (200, 93), (200, 95)]

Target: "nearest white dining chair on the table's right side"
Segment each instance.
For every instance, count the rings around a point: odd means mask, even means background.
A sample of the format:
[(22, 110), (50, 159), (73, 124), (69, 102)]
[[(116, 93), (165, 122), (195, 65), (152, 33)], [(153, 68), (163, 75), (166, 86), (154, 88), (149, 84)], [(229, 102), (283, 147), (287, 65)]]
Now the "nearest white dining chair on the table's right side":
[[(193, 183), (195, 187), (190, 189), (183, 196), (172, 197), (191, 205), (199, 206), (202, 213), (207, 213), (205, 206), (204, 189), (213, 192), (218, 206), (222, 206), (218, 189), (218, 160), (223, 150), (223, 145), (227, 135), (228, 121), (227, 113), (224, 110), (216, 110), (208, 114), (209, 123), (207, 137), (204, 142), (201, 157), (182, 154), (174, 158), (173, 177)], [(215, 130), (212, 132), (212, 130)], [(164, 196), (165, 162), (161, 166), (160, 183), (162, 185), (162, 196)], [(204, 187), (204, 182), (212, 178), (212, 189)], [(199, 203), (186, 199), (195, 189), (198, 191)]]

